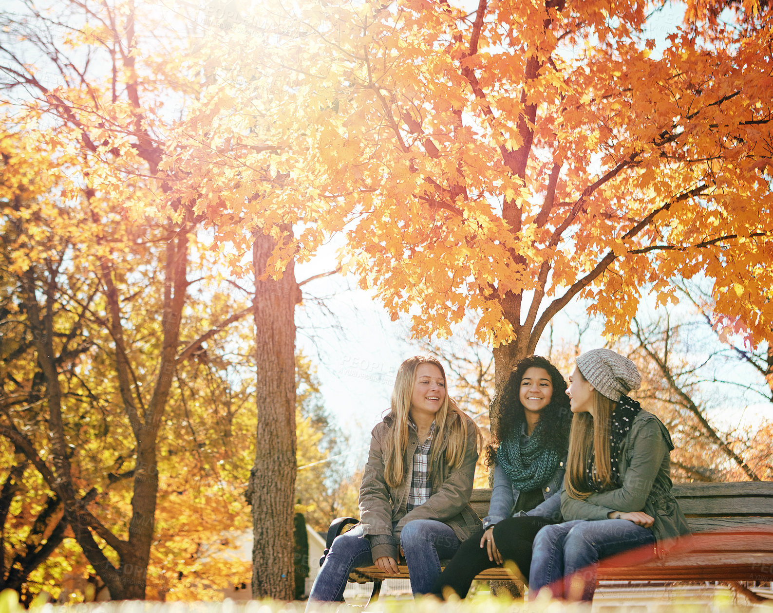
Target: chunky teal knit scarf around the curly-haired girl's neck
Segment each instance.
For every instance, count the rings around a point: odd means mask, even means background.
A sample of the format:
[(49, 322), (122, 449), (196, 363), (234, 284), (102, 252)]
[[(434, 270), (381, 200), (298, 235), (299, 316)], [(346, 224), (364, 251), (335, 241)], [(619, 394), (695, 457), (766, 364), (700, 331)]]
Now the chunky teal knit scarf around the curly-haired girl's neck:
[[(539, 424), (537, 425), (539, 429)], [(521, 444), (521, 428), (515, 427), (499, 444), (496, 462), (519, 492), (541, 488), (558, 468), (560, 458), (552, 447), (546, 447), (543, 437), (534, 431), (529, 442)]]

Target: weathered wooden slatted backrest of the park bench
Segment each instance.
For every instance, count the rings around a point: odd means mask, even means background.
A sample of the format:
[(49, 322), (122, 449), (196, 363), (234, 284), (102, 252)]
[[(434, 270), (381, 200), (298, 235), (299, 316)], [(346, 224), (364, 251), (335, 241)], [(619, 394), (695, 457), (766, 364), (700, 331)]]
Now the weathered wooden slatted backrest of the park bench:
[[(693, 532), (773, 525), (773, 481), (679, 483), (673, 492)], [(491, 489), (475, 489), (470, 504), (485, 517), (490, 500)]]

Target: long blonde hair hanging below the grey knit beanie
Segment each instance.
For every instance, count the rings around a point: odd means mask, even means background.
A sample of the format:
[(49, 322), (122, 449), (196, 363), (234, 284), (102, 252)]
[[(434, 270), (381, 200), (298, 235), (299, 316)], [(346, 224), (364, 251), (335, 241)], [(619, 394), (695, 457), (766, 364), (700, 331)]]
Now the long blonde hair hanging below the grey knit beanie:
[[(580, 369), (575, 370), (575, 373), (585, 380)], [(572, 429), (569, 433), (567, 474), (564, 477), (564, 488), (571, 498), (579, 500), (584, 500), (591, 494), (587, 485), (586, 470), (593, 455), (595, 455), (594, 477), (598, 482), (601, 482), (604, 488), (612, 485), (609, 434), (612, 411), (615, 410), (617, 403), (595, 389), (592, 398), (593, 414), (575, 413), (572, 417)]]

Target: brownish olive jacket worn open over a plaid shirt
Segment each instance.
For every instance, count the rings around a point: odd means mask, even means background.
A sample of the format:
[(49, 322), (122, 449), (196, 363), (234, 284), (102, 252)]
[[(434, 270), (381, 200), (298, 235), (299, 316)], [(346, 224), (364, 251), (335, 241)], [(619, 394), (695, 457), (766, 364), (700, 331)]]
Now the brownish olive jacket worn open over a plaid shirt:
[[(460, 541), (480, 530), (480, 519), (469, 505), (475, 462), (478, 460), (478, 429), (465, 414), (451, 414), (451, 420), (455, 419), (468, 421), (465, 457), (459, 468), (446, 464), (444, 451), (448, 445), (449, 428), (444, 428), (443, 441), (432, 441), (433, 448), (435, 444), (442, 445), (430, 467), (432, 495), (410, 513), (406, 513), (407, 500), (414, 472), (414, 450), (419, 443), (418, 435), (413, 428), (408, 428), (408, 445), (403, 456), (404, 477), (400, 485), (393, 488), (386, 485), (384, 480), (383, 458), (386, 436), (393, 424), (392, 413), (373, 428), (368, 463), (362, 485), (359, 486), (360, 523), (370, 541), (373, 560), (383, 556), (399, 559), (400, 532), (413, 519), (437, 519), (446, 523)], [(397, 525), (393, 528), (394, 523)]]

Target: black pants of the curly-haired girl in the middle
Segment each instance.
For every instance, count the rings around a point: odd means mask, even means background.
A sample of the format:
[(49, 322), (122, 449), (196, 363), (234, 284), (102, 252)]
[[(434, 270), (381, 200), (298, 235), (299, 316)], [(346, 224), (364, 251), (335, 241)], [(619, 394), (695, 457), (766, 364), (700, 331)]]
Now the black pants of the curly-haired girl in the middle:
[[(556, 522), (550, 517), (519, 516), (502, 519), (494, 526), (494, 542), (502, 554), (502, 560), (515, 562), (526, 581), (529, 579), (534, 537), (540, 528), (551, 523)], [(461, 543), (453, 559), (435, 582), (433, 594), (443, 598), (444, 588), (451, 587), (459, 594), (459, 598), (465, 598), (476, 574), (486, 568), (499, 566), (489, 560), (489, 550), (480, 546), (482, 536), (483, 530), (480, 530)]]

